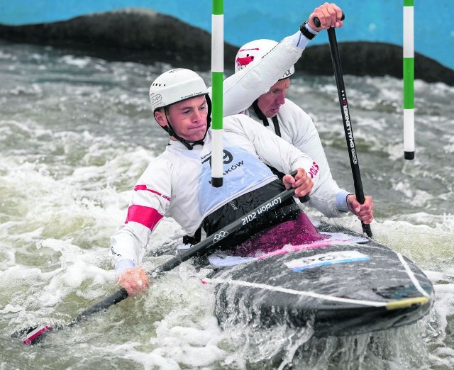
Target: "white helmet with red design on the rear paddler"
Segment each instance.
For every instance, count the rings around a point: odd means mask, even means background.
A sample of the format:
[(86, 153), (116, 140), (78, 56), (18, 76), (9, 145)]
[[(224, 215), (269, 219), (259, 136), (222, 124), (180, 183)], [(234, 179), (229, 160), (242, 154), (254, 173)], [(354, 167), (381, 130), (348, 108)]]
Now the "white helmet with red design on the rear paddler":
[[(277, 41), (262, 38), (260, 40), (250, 41), (250, 43), (240, 47), (240, 50), (238, 50), (235, 57), (235, 73), (247, 67), (250, 63), (257, 63), (277, 44)], [(294, 72), (295, 68), (292, 66), (282, 75), (280, 79), (286, 79), (287, 77), (292, 76)]]

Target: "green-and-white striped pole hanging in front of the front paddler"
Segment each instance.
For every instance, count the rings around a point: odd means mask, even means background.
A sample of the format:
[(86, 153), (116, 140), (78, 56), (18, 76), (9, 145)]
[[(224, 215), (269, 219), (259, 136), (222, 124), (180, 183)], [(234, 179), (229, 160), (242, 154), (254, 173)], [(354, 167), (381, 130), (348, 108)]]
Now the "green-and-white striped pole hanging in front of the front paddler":
[(224, 15), (223, 0), (213, 0), (211, 16), (211, 97), (213, 99), (211, 185), (222, 186), (223, 174), (223, 129), (222, 93), (224, 72)]

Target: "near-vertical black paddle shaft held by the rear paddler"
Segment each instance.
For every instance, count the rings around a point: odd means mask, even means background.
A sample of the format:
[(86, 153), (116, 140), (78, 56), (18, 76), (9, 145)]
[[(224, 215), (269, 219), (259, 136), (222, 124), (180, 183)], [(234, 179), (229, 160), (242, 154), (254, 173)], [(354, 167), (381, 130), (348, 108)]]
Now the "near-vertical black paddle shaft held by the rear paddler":
[[(358, 202), (364, 203), (364, 191), (362, 190), (362, 181), (360, 174), (360, 164), (358, 163), (358, 152), (355, 147), (355, 139), (353, 138), (353, 128), (350, 121), (350, 112), (348, 111), (348, 99), (345, 93), (345, 85), (343, 83), (341, 57), (339, 57), (338, 43), (336, 40), (336, 30), (333, 27), (328, 29), (329, 46), (331, 50), (331, 59), (333, 60), (334, 76), (338, 87), (339, 104), (341, 105), (341, 113), (343, 120), (343, 128), (345, 131), (345, 139), (347, 140), (348, 155), (350, 157), (350, 166), (352, 167), (353, 184), (355, 186), (355, 194)], [(367, 236), (372, 237), (370, 225), (361, 221), (362, 231)]]

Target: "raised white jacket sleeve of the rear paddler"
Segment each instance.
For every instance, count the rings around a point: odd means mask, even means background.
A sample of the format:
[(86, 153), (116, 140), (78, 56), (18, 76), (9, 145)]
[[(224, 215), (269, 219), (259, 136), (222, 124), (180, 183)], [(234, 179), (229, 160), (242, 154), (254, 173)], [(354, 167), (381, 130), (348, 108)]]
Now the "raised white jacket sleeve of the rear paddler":
[[(284, 72), (299, 60), (303, 50), (304, 47), (295, 46), (289, 36), (255, 65), (250, 65), (225, 79), (223, 116), (238, 114), (249, 108), (255, 99), (270, 90)], [(211, 87), (209, 94), (211, 96)]]

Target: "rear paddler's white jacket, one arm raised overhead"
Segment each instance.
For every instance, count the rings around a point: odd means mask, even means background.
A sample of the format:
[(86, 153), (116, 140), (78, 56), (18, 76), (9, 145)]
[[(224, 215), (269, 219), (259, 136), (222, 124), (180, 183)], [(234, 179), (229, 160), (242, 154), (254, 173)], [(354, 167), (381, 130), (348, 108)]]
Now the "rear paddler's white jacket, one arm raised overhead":
[[(263, 124), (251, 107), (253, 102), (258, 96), (269, 91), (284, 72), (297, 62), (308, 43), (309, 39), (298, 31), (284, 38), (259, 63), (248, 65), (248, 68), (228, 77), (223, 84), (224, 116), (245, 113)], [(272, 119), (267, 120), (267, 129), (276, 133)], [(333, 179), (319, 133), (311, 117), (295, 103), (285, 99), (277, 114), (277, 120), (281, 137), (313, 158), (321, 169), (318, 186), (311, 194), (309, 203), (305, 204), (316, 208), (327, 217), (347, 215), (346, 198), (351, 193), (341, 189)]]

